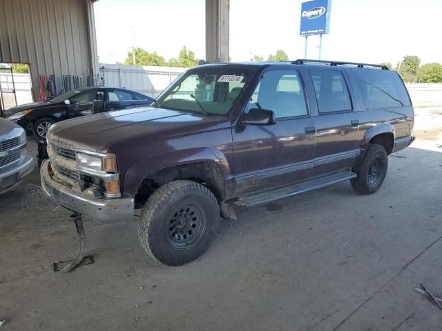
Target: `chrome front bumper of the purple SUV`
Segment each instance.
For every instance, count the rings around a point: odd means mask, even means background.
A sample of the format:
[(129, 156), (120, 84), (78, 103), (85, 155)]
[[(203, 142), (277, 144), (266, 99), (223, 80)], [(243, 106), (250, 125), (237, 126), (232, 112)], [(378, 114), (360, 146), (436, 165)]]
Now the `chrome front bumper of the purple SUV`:
[(50, 177), (49, 162), (45, 160), (41, 164), (41, 188), (64, 208), (97, 221), (129, 221), (133, 218), (133, 199), (97, 199), (73, 192)]

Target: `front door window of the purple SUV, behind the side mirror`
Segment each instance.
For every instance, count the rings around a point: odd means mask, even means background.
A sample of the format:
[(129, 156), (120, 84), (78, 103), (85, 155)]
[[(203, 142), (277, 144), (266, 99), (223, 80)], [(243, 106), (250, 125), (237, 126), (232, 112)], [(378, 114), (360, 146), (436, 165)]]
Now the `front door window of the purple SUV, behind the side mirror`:
[(247, 109), (271, 110), (277, 119), (308, 114), (305, 93), (296, 70), (269, 70), (262, 75)]

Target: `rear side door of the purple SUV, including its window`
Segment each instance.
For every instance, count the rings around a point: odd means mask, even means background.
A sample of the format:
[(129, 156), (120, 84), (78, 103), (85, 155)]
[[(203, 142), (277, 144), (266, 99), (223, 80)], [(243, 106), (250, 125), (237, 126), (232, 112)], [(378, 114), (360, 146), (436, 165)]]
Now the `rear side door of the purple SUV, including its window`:
[(359, 154), (359, 121), (345, 71), (318, 68), (309, 75), (318, 105), (314, 175), (351, 168)]

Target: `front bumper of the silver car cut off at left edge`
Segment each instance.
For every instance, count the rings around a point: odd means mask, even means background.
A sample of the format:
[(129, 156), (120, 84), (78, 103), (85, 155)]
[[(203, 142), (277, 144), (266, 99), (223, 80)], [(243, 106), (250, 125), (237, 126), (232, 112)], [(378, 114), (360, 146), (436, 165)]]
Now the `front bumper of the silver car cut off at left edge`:
[(0, 169), (0, 194), (13, 188), (34, 169), (34, 159), (29, 155), (22, 157), (5, 168)]

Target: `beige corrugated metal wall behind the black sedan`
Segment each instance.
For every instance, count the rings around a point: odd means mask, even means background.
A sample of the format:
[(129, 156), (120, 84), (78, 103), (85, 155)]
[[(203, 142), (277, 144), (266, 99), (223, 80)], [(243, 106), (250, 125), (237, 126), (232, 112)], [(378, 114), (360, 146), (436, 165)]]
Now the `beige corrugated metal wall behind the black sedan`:
[(1, 0), (0, 63), (28, 63), (34, 97), (38, 75), (80, 75), (96, 62), (91, 0)]

